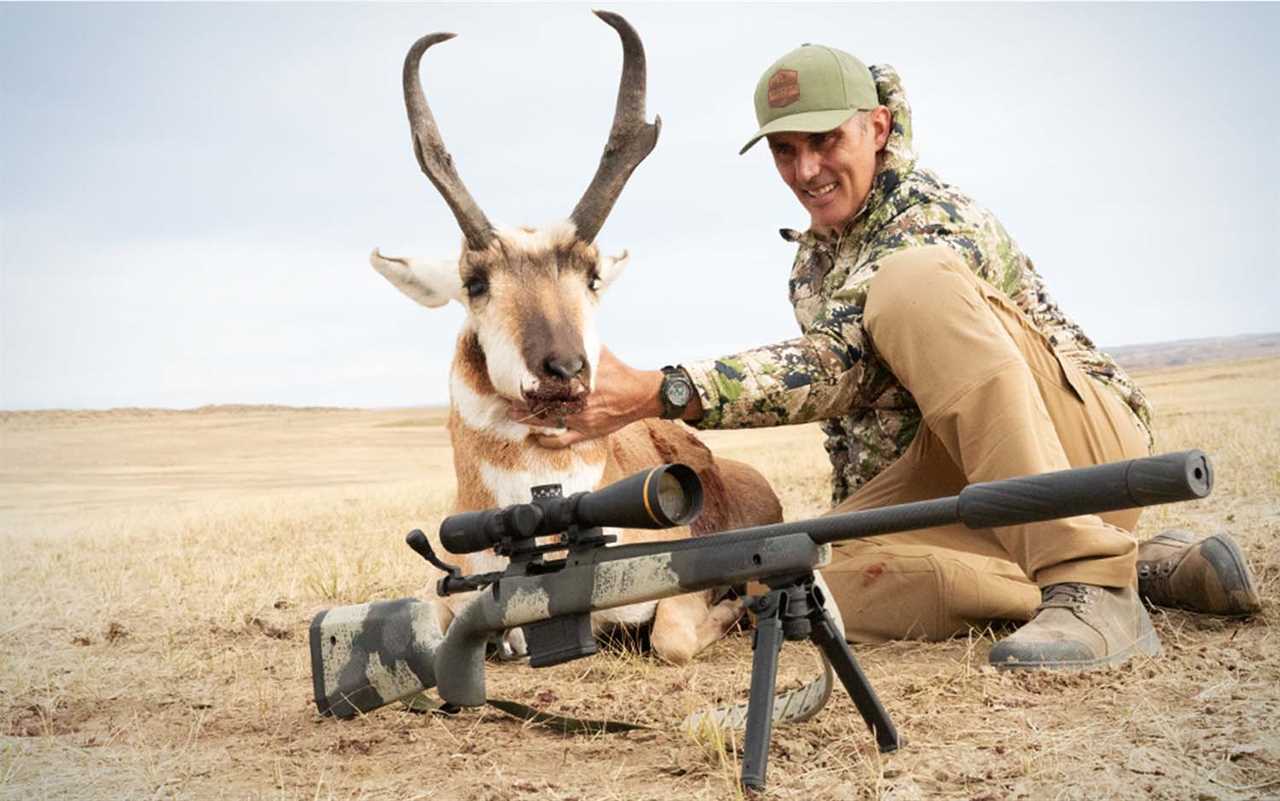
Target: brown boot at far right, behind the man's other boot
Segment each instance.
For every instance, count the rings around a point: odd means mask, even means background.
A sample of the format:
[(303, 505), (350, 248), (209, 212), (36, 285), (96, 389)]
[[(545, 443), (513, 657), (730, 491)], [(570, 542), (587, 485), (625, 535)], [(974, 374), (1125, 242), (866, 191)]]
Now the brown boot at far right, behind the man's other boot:
[(1243, 617), (1262, 608), (1240, 546), (1229, 534), (1197, 539), (1164, 531), (1138, 545), (1138, 594), (1155, 607)]

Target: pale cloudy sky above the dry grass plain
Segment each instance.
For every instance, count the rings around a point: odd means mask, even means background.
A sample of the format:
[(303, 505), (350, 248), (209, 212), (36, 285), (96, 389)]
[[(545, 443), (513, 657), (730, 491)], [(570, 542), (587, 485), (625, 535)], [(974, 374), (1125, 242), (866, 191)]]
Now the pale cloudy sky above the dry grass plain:
[[(598, 237), (600, 329), (637, 367), (791, 338), (806, 216), (754, 132), (804, 42), (892, 64), (920, 164), (992, 209), (1089, 335), (1280, 330), (1280, 5), (604, 6), (662, 136)], [(503, 224), (563, 219), (621, 46), (586, 5), (0, 4), (0, 408), (443, 403), (462, 308), (369, 252), (461, 237), (399, 72)]]

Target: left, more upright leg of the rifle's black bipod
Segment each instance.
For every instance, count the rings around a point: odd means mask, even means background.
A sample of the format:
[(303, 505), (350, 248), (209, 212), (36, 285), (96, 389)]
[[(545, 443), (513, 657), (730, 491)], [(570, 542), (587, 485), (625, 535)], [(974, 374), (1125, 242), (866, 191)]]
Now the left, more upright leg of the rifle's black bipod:
[(785, 592), (773, 590), (755, 600), (755, 633), (751, 637), (751, 695), (746, 701), (746, 736), (742, 743), (742, 786), (764, 789), (769, 768), (769, 738), (773, 736), (773, 685), (778, 678), (782, 650)]

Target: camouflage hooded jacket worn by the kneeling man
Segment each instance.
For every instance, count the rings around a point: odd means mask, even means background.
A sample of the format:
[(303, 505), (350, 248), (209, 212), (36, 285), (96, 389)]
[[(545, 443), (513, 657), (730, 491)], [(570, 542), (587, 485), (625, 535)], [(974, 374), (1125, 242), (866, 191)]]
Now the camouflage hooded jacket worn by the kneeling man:
[(945, 244), (1004, 290), (1065, 358), (1112, 389), (1151, 436), (1142, 390), (1050, 298), (1030, 260), (968, 196), (915, 166), (911, 109), (891, 67), (873, 67), (893, 127), (863, 210), (838, 237), (783, 230), (796, 242), (790, 293), (803, 337), (684, 365), (701, 397), (701, 429), (822, 421), (838, 503), (896, 461), (920, 425), (920, 409), (877, 357), (863, 328), (867, 285), (878, 260)]

